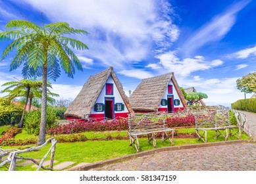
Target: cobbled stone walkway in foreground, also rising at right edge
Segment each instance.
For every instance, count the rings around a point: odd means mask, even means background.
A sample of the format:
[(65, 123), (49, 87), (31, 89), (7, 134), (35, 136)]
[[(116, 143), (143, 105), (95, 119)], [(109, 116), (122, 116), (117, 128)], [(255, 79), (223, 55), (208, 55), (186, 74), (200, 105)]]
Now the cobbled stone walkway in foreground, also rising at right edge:
[[(253, 139), (256, 137), (256, 114), (245, 112)], [(203, 171), (248, 171), (256, 170), (256, 143), (240, 143), (186, 150), (170, 150), (109, 164), (91, 170), (203, 170)]]

